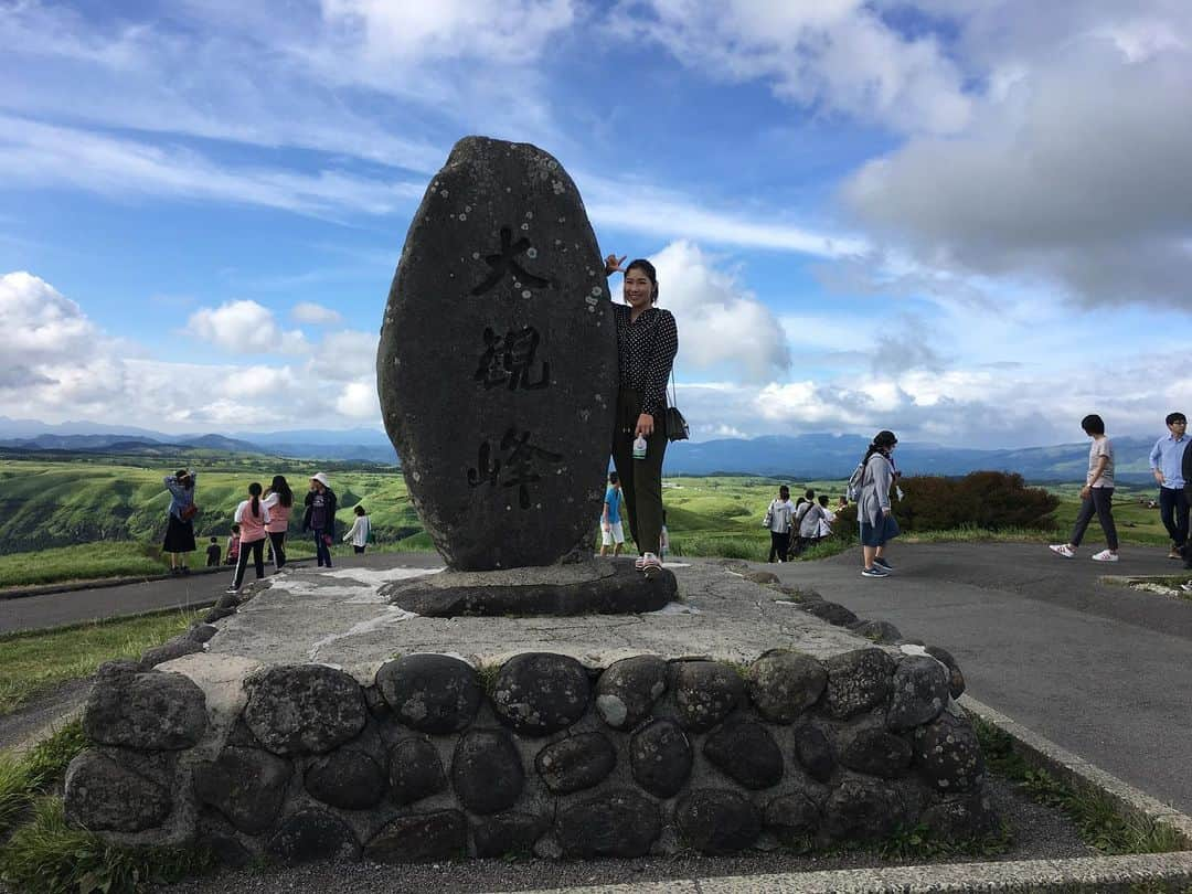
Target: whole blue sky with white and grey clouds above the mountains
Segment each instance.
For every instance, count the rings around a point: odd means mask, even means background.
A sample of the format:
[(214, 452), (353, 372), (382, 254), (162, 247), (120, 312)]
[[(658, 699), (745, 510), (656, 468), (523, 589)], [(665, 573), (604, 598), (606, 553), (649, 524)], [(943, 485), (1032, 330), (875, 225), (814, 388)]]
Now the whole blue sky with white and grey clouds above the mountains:
[(379, 428), (467, 134), (656, 261), (700, 440), (1192, 410), (1182, 0), (0, 0), (0, 415)]

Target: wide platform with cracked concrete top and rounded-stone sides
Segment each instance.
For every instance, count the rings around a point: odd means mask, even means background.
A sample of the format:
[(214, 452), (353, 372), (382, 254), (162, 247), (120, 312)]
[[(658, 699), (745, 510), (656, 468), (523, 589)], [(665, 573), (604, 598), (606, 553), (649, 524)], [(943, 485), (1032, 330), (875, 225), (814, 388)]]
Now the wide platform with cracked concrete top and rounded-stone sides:
[(997, 828), (946, 652), (874, 644), (724, 565), (671, 567), (679, 602), (565, 619), (426, 617), (381, 595), (426, 570), (273, 578), (153, 660), (191, 654), (98, 676), (68, 819), (234, 864)]

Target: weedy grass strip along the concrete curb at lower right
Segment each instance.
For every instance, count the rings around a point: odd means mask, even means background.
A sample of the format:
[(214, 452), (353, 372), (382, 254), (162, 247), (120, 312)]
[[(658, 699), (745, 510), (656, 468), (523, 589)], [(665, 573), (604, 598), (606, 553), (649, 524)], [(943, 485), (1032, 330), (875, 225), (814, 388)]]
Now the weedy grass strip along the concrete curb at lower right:
[(973, 718), (986, 763), (1033, 797), (1068, 815), (1081, 839), (1101, 853), (1169, 853), (1182, 849), (1179, 834), (1148, 817), (1123, 813), (1107, 795), (1075, 787), (1032, 768), (1014, 749), (1013, 737)]

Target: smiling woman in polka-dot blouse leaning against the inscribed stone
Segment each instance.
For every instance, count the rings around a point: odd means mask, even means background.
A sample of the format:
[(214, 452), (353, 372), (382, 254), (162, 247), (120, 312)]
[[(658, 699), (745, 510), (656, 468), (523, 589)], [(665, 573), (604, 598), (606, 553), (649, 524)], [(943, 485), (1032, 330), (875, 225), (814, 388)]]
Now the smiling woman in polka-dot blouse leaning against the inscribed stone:
[(652, 576), (662, 569), (666, 380), (678, 353), (678, 328), (669, 310), (654, 306), (654, 266), (639, 257), (622, 267), (623, 261), (615, 254), (604, 260), (606, 275), (625, 274), (625, 304), (613, 305), (619, 370), (613, 464), (625, 493), (629, 536), (638, 545), (635, 565)]

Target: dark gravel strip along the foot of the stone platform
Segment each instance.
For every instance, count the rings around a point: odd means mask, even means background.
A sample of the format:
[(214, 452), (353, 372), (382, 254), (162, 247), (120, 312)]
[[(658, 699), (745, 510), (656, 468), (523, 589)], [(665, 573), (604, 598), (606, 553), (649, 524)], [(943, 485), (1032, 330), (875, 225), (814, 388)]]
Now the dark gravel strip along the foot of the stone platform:
[[(1058, 811), (1044, 807), (1019, 794), (1000, 777), (991, 778), (991, 794), (1002, 817), (1014, 830), (1014, 845), (997, 861), (1087, 857), (1097, 853), (1080, 840), (1075, 827)], [(976, 857), (951, 857), (931, 862), (968, 863)], [(921, 864), (912, 859), (907, 864)], [(625, 884), (669, 879), (700, 879), (722, 875), (763, 875), (824, 869), (859, 869), (899, 865), (870, 853), (833, 857), (801, 857), (772, 852), (741, 857), (701, 857), (681, 853), (673, 857), (557, 862), (530, 859), (507, 863), (499, 859), (472, 859), (458, 863), (380, 865), (375, 863), (315, 863), (277, 871), (238, 870), (172, 884), (161, 894), (462, 894), (534, 888), (565, 888), (582, 884)]]

